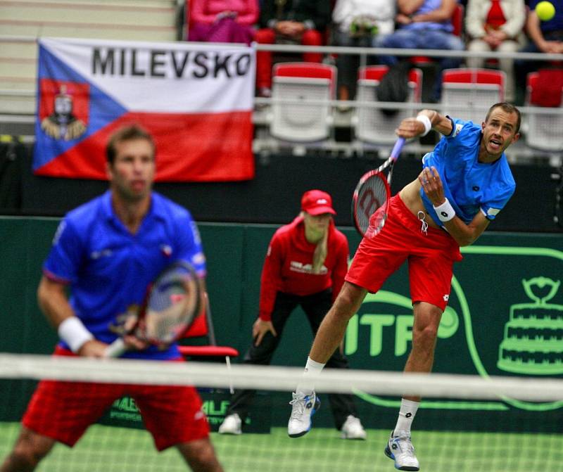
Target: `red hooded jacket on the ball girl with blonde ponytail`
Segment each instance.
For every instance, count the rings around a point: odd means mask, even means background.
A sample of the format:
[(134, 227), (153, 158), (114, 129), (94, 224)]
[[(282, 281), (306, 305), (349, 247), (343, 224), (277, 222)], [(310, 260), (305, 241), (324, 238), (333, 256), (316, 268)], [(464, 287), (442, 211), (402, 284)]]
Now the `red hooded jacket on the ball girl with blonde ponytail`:
[(312, 255), (317, 245), (305, 239), (303, 218), (297, 217), (275, 232), (262, 268), (260, 319), (270, 321), (277, 292), (304, 296), (332, 287), (332, 299), (336, 298), (348, 270), (348, 239), (333, 222), (327, 245), (327, 259), (320, 274), (312, 274)]

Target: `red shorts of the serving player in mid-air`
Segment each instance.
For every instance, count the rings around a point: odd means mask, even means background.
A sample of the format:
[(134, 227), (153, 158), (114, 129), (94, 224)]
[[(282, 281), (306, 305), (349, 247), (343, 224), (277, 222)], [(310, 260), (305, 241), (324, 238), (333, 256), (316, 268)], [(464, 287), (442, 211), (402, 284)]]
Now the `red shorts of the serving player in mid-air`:
[(391, 198), (388, 219), (381, 232), (362, 239), (346, 281), (375, 293), (405, 260), (409, 264), (412, 303), (428, 302), (445, 310), (453, 263), (462, 260), (460, 247), (443, 229), (428, 227), (424, 233), (422, 222), (396, 195)]

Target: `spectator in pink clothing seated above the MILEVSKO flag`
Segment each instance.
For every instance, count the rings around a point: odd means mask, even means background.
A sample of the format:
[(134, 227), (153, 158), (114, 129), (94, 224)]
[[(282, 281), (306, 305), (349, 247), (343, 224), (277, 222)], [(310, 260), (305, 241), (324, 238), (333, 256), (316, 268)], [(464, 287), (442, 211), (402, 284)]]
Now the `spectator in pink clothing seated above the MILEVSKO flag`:
[(254, 38), (257, 0), (191, 0), (189, 41), (246, 43)]

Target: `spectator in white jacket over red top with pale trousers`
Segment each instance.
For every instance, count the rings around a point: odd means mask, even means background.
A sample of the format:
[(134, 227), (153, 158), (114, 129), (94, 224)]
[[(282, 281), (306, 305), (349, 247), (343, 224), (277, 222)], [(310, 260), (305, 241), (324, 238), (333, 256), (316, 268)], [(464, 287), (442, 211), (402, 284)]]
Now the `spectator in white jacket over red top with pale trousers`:
[[(526, 22), (524, 0), (469, 0), (465, 32), (471, 37), (468, 51), (514, 53), (526, 45), (523, 28)], [(482, 68), (484, 58), (467, 58), (467, 67)], [(499, 59), (506, 74), (505, 100), (514, 101), (514, 60)]]

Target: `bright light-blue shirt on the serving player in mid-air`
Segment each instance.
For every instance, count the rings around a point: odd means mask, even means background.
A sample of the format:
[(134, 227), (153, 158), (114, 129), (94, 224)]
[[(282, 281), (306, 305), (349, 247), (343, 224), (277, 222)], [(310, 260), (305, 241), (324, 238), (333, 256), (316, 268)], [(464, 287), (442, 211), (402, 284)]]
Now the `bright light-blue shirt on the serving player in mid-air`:
[[(465, 224), (479, 211), (488, 219), (495, 219), (516, 189), (505, 153), (495, 162), (479, 162), (481, 127), (470, 121), (450, 120), (451, 134), (443, 136), (434, 151), (424, 155), (422, 166), (436, 167), (445, 197)], [(420, 189), (420, 196), (434, 222), (443, 227), (424, 189)]]

